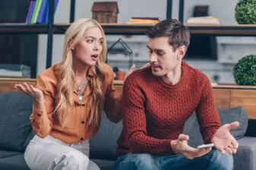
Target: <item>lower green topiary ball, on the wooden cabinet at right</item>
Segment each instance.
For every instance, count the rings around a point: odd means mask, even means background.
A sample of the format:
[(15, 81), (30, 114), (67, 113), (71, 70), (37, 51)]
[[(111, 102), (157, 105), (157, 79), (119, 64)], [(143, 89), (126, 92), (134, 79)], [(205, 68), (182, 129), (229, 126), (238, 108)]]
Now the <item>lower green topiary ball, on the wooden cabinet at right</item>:
[(234, 67), (237, 85), (256, 85), (256, 55), (242, 57)]

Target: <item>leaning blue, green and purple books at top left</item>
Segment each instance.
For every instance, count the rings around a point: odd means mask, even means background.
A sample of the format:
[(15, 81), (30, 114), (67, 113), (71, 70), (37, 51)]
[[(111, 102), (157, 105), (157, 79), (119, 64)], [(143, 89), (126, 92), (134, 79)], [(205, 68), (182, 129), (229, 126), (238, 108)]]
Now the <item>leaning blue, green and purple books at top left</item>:
[[(50, 1), (51, 0), (30, 0), (26, 23), (48, 23)], [(54, 11), (56, 11), (58, 0), (54, 1)]]

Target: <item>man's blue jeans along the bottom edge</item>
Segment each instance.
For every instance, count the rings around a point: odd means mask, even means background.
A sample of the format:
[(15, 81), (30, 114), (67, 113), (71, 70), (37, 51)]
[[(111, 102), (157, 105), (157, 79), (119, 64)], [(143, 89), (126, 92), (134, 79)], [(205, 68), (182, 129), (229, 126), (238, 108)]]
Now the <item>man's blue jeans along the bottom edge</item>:
[(174, 156), (153, 156), (148, 153), (128, 153), (115, 162), (115, 170), (232, 170), (233, 157), (211, 150), (204, 156), (187, 159), (182, 154)]

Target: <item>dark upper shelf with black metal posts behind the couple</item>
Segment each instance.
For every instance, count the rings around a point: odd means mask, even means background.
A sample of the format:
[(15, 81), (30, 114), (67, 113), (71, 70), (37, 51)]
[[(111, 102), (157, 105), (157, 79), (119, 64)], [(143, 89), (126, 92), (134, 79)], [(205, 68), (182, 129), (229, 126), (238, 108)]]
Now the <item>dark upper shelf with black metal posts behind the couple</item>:
[[(46, 68), (52, 66), (52, 41), (54, 34), (64, 34), (74, 22), (75, 0), (71, 0), (69, 23), (54, 23), (54, 3), (49, 3), (48, 24), (0, 23), (0, 35), (46, 34)], [(179, 0), (179, 20), (183, 22), (184, 0)], [(166, 18), (172, 18), (172, 0), (167, 0)], [(102, 24), (106, 35), (144, 35), (153, 24), (116, 23)], [(203, 36), (256, 36), (256, 25), (188, 25), (192, 35)]]

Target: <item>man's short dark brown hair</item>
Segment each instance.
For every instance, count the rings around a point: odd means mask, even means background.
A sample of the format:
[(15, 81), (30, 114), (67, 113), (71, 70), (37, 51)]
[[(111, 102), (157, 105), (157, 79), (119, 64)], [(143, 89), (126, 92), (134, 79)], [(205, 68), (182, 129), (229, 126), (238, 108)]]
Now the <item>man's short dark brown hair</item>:
[(169, 37), (169, 45), (172, 45), (173, 51), (185, 45), (188, 48), (190, 43), (190, 32), (188, 26), (183, 25), (179, 20), (167, 19), (156, 23), (150, 30), (147, 31), (147, 36), (150, 39), (160, 36)]

